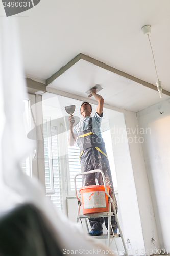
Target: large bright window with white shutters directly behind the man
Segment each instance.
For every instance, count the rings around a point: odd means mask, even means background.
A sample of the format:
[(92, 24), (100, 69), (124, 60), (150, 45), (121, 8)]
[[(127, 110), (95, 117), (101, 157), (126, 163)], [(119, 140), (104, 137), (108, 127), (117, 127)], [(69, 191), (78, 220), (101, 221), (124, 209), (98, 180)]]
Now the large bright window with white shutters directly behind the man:
[[(67, 210), (65, 203), (66, 197), (75, 196), (74, 177), (77, 173), (81, 173), (79, 162), (80, 149), (76, 144), (74, 147), (69, 147), (67, 142), (69, 123), (65, 106), (74, 104), (76, 105), (74, 115), (75, 122), (77, 123), (81, 118), (79, 111), (81, 102), (79, 100), (53, 93), (42, 95), (46, 191), (53, 202), (56, 202), (56, 206), (61, 209), (63, 208), (65, 212)], [(92, 105), (92, 107), (95, 110), (96, 105)], [(105, 111), (107, 113), (107, 110)], [(109, 116), (109, 114), (106, 116)], [(101, 131), (106, 130), (109, 130), (108, 118), (102, 119)], [(103, 132), (104, 134), (105, 132)], [(109, 161), (113, 161), (112, 145), (109, 147), (109, 150), (107, 149), (107, 141), (111, 142), (107, 132), (105, 137), (107, 153), (108, 155), (112, 153), (111, 157), (109, 156)], [(110, 165), (112, 166), (111, 162)], [(111, 170), (112, 177), (114, 177), (114, 162)], [(53, 179), (54, 184), (52, 184)], [(82, 176), (78, 176), (76, 181), (77, 189), (79, 189), (82, 187)], [(115, 187), (114, 178), (113, 184)]]

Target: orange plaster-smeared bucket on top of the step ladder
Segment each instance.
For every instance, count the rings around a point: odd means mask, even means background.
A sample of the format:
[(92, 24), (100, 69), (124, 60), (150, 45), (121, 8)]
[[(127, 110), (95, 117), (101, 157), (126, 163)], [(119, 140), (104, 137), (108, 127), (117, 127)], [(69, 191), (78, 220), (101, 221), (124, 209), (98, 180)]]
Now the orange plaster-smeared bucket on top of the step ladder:
[[(86, 186), (80, 188), (83, 214), (93, 212), (108, 212), (109, 200), (104, 185)], [(109, 193), (110, 187), (107, 186)]]

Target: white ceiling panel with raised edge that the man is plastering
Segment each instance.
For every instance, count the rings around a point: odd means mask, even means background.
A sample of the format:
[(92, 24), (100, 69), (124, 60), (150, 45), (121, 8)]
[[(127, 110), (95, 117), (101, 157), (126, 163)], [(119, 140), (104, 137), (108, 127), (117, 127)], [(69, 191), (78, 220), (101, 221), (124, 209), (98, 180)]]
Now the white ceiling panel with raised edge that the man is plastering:
[[(65, 92), (69, 90), (71, 94), (88, 97), (85, 92), (95, 84), (102, 86), (99, 94), (106, 104), (133, 112), (169, 99), (168, 95), (164, 94), (160, 98), (157, 91), (83, 59), (57, 77), (48, 87)], [(90, 99), (94, 100), (94, 97)]]

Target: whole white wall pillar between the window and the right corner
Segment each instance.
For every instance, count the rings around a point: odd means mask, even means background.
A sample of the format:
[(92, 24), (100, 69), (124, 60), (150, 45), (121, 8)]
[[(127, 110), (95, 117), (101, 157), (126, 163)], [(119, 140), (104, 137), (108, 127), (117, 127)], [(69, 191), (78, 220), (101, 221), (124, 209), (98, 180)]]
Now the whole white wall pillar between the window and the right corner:
[(133, 254), (150, 255), (156, 252), (151, 238), (160, 245), (136, 113), (117, 112), (110, 127), (124, 238), (130, 239)]

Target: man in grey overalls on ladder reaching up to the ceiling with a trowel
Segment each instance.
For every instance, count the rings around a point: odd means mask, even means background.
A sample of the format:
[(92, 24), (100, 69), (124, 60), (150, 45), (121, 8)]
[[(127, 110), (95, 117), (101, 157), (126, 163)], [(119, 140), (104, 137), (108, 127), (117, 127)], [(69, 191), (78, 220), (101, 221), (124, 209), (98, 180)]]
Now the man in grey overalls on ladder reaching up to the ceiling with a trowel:
[[(74, 117), (72, 115), (69, 116), (68, 121), (70, 125), (70, 130), (68, 136), (68, 144), (69, 146), (74, 146), (75, 142), (77, 142), (81, 152), (79, 159), (81, 164), (81, 171), (83, 173), (95, 169), (103, 170), (106, 185), (110, 187), (110, 196), (113, 199), (114, 206), (117, 212), (117, 201), (114, 194), (109, 161), (105, 149), (105, 143), (103, 141), (100, 131), (101, 121), (103, 117), (104, 99), (102, 98), (102, 96), (96, 93), (96, 89), (92, 89), (91, 94), (98, 101), (96, 112), (94, 116), (91, 117), (91, 105), (88, 102), (83, 102), (80, 108), (80, 114), (83, 116), (83, 119), (74, 128)], [(101, 173), (83, 175), (82, 185), (96, 185), (95, 178), (98, 180), (99, 185), (103, 185)], [(111, 212), (113, 212), (113, 207), (111, 207)], [(103, 217), (89, 218), (89, 222), (92, 229), (89, 232), (91, 236), (99, 236), (103, 234)], [(108, 217), (105, 217), (105, 225), (106, 228), (108, 228)], [(118, 226), (115, 220), (115, 216), (111, 216), (111, 225), (114, 234), (116, 234)]]

